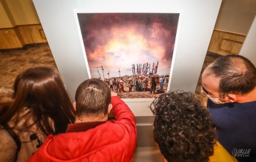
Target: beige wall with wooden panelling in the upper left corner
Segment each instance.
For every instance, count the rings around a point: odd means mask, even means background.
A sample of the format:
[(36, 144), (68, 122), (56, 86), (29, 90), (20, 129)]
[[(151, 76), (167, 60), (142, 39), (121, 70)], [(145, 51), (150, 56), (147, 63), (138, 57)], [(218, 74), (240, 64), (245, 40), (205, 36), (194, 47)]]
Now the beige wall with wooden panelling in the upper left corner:
[(46, 43), (32, 0), (0, 0), (0, 49)]

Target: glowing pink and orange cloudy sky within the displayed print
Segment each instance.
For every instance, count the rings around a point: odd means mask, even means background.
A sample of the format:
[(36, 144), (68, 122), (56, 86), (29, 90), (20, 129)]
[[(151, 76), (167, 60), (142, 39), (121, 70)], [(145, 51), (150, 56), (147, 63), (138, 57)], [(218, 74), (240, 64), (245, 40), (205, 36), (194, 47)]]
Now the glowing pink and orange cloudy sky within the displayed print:
[(178, 19), (178, 13), (78, 13), (91, 77), (131, 76), (132, 65), (156, 62), (157, 73), (169, 75)]

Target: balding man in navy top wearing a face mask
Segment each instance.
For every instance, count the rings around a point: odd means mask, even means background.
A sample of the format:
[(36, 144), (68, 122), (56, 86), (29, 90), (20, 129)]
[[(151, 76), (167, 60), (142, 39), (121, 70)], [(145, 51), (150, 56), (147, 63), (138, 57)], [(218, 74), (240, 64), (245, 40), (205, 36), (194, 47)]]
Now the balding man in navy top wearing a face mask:
[(203, 71), (202, 92), (208, 97), (219, 142), (238, 161), (253, 161), (256, 156), (255, 66), (244, 56), (220, 56)]

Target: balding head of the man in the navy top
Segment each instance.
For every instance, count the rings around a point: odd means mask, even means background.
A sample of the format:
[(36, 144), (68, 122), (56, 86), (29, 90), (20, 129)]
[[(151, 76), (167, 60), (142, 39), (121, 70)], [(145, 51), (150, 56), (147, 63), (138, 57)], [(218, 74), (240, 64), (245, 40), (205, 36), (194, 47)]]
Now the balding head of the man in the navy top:
[(220, 56), (202, 73), (202, 90), (215, 103), (236, 102), (237, 95), (246, 95), (255, 86), (256, 68), (244, 56)]

